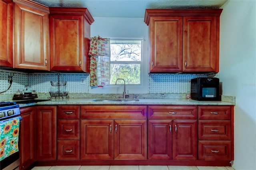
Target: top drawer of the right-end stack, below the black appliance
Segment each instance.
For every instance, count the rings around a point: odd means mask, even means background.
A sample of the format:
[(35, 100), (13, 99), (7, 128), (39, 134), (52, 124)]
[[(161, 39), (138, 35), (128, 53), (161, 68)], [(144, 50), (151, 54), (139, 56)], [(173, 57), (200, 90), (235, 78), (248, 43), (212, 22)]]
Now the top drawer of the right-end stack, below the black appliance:
[(198, 119), (230, 119), (231, 106), (198, 106)]

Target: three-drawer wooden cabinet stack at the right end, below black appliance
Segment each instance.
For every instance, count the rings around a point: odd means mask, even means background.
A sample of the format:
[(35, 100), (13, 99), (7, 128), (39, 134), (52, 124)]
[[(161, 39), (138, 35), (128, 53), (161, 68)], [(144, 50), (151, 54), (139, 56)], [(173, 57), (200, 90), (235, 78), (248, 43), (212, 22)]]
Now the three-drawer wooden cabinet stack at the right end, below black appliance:
[(198, 160), (234, 160), (234, 106), (198, 106)]

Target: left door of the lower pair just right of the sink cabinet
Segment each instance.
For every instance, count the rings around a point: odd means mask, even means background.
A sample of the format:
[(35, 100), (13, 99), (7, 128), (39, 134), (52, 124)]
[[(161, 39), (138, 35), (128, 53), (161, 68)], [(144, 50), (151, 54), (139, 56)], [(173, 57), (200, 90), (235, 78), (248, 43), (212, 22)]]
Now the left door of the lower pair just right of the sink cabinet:
[(172, 121), (148, 121), (148, 159), (172, 159)]

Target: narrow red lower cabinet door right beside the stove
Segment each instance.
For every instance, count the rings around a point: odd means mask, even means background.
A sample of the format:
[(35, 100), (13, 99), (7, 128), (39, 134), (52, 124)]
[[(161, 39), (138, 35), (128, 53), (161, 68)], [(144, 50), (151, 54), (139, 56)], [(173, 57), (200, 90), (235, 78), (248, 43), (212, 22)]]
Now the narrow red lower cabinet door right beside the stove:
[(23, 118), (20, 124), (20, 168), (25, 169), (35, 162), (36, 108), (20, 109), (20, 114)]

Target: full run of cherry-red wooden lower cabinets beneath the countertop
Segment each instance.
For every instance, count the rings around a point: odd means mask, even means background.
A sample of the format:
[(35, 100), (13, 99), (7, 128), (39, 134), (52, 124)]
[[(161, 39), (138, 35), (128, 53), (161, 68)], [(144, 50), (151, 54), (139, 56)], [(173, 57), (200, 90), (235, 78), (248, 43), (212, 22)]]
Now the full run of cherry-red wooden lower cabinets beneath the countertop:
[[(22, 112), (24, 122), (32, 121), (30, 110)], [(231, 166), (234, 160), (234, 106), (59, 105), (37, 106), (35, 113), (36, 146), (28, 140), (21, 152), (35, 147), (36, 158), (28, 155), (24, 167), (33, 160), (37, 166)]]

